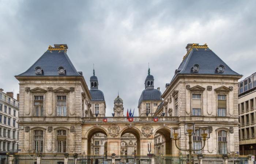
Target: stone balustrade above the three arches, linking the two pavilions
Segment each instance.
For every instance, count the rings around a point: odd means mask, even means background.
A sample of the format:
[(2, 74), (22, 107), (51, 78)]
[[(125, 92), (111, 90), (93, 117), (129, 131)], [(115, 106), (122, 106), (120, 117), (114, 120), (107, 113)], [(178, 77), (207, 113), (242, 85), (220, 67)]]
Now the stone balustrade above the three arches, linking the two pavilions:
[[(133, 117), (132, 122), (154, 122), (155, 117)], [(157, 122), (176, 122), (178, 117), (157, 117)], [(127, 117), (83, 117), (83, 122), (129, 122)]]

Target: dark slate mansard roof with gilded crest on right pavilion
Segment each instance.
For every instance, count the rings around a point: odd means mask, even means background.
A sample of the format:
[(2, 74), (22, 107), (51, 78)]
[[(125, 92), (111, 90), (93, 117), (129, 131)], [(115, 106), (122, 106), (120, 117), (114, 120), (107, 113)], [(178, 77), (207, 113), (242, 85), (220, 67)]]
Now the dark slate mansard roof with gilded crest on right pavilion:
[[(198, 65), (199, 70), (193, 71), (193, 66)], [(218, 66), (224, 66), (224, 71), (218, 71)], [(238, 75), (233, 71), (218, 55), (210, 50), (207, 44), (199, 46), (193, 44), (187, 54), (184, 56), (180, 66), (175, 71), (173, 79), (178, 74), (211, 74), (211, 75)], [(172, 81), (173, 81), (172, 79)]]

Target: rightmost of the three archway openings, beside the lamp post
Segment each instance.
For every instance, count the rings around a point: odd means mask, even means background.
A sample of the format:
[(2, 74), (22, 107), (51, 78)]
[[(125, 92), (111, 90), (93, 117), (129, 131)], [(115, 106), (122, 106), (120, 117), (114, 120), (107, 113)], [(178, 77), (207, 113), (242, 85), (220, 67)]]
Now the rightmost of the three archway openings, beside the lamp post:
[(154, 134), (155, 155), (172, 154), (172, 140), (170, 138), (170, 129), (161, 128)]

